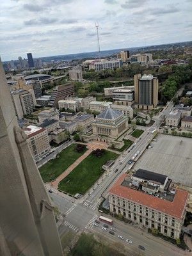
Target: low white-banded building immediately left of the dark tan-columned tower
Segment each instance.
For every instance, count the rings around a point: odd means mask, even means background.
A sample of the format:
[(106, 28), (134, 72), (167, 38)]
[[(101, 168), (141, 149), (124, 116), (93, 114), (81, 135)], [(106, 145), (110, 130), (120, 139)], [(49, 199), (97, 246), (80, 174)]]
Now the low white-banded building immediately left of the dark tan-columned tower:
[(118, 89), (113, 91), (113, 102), (116, 105), (131, 106), (134, 103), (134, 90)]

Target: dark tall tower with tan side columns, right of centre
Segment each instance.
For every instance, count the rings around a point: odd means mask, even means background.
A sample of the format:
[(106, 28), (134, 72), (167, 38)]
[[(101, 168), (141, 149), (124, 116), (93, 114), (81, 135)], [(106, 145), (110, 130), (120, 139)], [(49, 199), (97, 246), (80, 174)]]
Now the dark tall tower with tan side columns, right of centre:
[(153, 109), (158, 103), (158, 79), (152, 75), (134, 75), (134, 107)]

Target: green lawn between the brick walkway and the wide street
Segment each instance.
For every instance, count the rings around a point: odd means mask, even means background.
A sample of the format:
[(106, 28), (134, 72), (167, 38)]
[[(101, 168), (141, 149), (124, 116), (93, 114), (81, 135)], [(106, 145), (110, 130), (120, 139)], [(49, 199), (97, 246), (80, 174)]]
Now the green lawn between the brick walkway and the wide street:
[(116, 159), (116, 157), (118, 157), (117, 154), (107, 150), (102, 157), (90, 154), (65, 179), (61, 180), (59, 189), (70, 195), (76, 195), (76, 193), (84, 195), (104, 172), (101, 166), (109, 159)]

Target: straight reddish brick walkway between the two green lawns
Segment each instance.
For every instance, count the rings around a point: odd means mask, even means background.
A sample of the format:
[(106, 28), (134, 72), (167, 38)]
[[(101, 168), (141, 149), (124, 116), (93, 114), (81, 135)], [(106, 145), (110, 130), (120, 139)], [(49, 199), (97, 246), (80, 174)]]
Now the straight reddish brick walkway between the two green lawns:
[[(81, 143), (84, 144), (84, 143)], [(93, 150), (96, 150), (97, 148), (104, 148), (106, 149), (108, 147), (108, 145), (104, 142), (97, 142), (97, 141), (92, 141), (90, 143), (88, 143), (88, 145), (86, 146), (86, 148), (88, 148), (88, 150), (81, 156), (79, 157), (72, 165), (70, 165), (67, 170), (65, 170), (63, 173), (61, 173), (61, 175), (59, 177), (57, 177), (56, 180), (54, 180), (53, 182), (50, 183), (50, 185), (52, 185), (54, 188), (58, 188), (58, 184), (60, 183), (61, 180), (63, 180), (65, 177), (67, 177), (67, 175), (72, 172), (72, 170), (74, 170), (74, 168), (76, 168), (76, 166), (81, 163), (89, 154), (92, 153)]]

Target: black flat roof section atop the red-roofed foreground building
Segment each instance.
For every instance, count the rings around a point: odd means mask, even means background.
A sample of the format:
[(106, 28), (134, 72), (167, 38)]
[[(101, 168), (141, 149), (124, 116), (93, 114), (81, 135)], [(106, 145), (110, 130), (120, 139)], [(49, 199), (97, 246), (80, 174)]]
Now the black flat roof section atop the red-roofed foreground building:
[(159, 182), (161, 184), (164, 184), (166, 178), (168, 176), (156, 173), (156, 172), (150, 172), (143, 169), (138, 169), (135, 174), (132, 175), (132, 177), (137, 177), (139, 179), (143, 180), (154, 180), (156, 182)]

